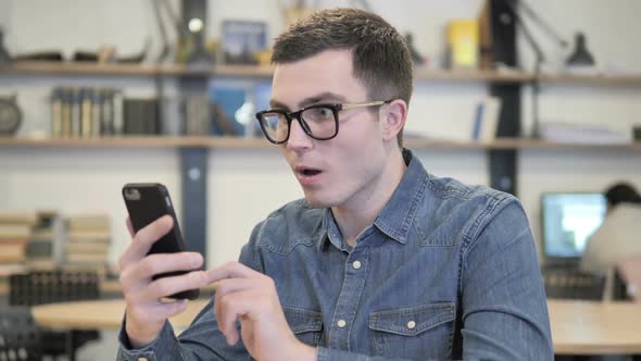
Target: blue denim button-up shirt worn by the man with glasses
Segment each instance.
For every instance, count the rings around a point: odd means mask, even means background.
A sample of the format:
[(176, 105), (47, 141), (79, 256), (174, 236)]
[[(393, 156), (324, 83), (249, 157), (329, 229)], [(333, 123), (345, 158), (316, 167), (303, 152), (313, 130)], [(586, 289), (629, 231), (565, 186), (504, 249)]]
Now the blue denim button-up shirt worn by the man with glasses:
[[(330, 209), (297, 200), (252, 232), (240, 262), (271, 276), (286, 319), (318, 360), (552, 360), (545, 292), (518, 200), (428, 174), (407, 150), (392, 198), (351, 249)], [(118, 360), (250, 360), (212, 301), (179, 337)]]

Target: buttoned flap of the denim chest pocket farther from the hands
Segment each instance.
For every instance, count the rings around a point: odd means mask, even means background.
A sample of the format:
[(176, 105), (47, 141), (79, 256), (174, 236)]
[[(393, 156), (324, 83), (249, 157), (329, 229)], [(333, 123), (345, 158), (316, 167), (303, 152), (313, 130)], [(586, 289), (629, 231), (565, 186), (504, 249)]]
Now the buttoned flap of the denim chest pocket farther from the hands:
[(454, 321), (455, 316), (454, 303), (430, 303), (373, 312), (369, 314), (369, 328), (401, 336), (416, 336), (440, 324)]

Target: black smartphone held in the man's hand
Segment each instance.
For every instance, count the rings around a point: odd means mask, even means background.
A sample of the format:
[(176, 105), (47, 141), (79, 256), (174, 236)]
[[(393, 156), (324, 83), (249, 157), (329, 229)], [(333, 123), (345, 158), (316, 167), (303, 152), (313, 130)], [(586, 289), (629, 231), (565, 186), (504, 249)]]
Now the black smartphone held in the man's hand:
[[(174, 228), (156, 240), (147, 254), (152, 253), (174, 253), (187, 250), (176, 212), (174, 212), (174, 203), (169, 197), (169, 191), (165, 186), (159, 183), (128, 183), (123, 187), (123, 198), (127, 211), (129, 212), (129, 220), (135, 232), (140, 231), (148, 224), (168, 214), (174, 219)], [(177, 276), (189, 273), (190, 271), (175, 271), (153, 275), (153, 279)], [(175, 299), (194, 299), (199, 295), (198, 289), (190, 289), (181, 291), (167, 298)]]

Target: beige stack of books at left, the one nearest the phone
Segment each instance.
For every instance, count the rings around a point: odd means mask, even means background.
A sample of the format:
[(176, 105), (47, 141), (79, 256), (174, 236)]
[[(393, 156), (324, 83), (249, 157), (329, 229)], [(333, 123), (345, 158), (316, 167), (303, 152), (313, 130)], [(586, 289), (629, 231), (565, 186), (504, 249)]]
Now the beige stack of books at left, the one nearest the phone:
[(65, 245), (66, 270), (97, 271), (103, 274), (111, 245), (110, 219), (106, 214), (77, 214), (67, 220)]

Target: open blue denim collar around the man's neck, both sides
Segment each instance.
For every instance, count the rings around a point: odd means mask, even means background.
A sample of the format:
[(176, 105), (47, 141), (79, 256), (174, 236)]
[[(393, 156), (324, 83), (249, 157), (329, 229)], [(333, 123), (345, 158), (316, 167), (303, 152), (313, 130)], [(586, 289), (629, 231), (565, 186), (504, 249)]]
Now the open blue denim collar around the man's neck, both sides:
[[(403, 161), (407, 166), (392, 198), (374, 220), (374, 225), (393, 240), (405, 244), (410, 232), (412, 220), (416, 214), (418, 201), (423, 198), (427, 187), (429, 175), (423, 164), (409, 149), (403, 149)], [(337, 249), (349, 251), (342, 241), (340, 229), (336, 224), (331, 209), (327, 208), (323, 216), (320, 229), (320, 242), (329, 240)]]

